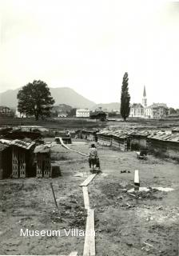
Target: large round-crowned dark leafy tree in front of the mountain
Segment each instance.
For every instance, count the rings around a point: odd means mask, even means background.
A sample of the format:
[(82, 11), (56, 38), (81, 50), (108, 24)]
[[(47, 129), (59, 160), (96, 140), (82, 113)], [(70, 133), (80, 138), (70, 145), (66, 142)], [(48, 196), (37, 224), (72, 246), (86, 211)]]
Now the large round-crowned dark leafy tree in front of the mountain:
[(50, 116), (54, 104), (50, 89), (46, 82), (34, 80), (18, 91), (18, 111), (26, 115), (34, 115), (35, 119)]

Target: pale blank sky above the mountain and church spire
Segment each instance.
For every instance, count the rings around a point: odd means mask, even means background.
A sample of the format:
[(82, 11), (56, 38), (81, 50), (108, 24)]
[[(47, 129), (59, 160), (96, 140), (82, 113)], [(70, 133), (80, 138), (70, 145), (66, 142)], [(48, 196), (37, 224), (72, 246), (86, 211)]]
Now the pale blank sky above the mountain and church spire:
[(179, 2), (0, 0), (0, 92), (40, 79), (96, 103), (179, 108)]

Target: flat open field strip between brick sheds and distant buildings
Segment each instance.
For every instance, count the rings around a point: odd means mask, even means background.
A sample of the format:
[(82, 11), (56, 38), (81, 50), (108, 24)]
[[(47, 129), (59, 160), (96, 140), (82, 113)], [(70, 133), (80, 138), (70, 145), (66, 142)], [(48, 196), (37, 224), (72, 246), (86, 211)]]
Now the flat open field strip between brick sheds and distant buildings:
[(179, 126), (179, 119), (132, 119), (127, 122), (110, 121), (101, 122), (86, 118), (46, 118), (46, 120), (35, 121), (34, 118), (2, 118), (0, 117), (0, 126), (43, 126), (46, 128), (54, 128), (63, 130), (82, 129), (82, 128), (103, 128), (105, 126), (141, 126), (142, 128), (168, 129)]

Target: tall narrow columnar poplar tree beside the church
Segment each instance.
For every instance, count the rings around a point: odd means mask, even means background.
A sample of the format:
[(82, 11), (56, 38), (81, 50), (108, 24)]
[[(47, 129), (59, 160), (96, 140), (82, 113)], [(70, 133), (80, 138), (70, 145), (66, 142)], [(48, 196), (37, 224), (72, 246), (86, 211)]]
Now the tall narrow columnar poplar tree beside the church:
[(124, 119), (124, 121), (129, 117), (130, 113), (128, 80), (128, 73), (125, 72), (121, 86), (121, 117)]

